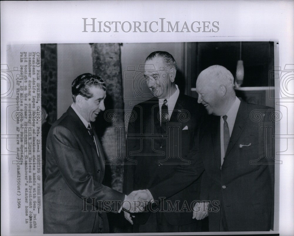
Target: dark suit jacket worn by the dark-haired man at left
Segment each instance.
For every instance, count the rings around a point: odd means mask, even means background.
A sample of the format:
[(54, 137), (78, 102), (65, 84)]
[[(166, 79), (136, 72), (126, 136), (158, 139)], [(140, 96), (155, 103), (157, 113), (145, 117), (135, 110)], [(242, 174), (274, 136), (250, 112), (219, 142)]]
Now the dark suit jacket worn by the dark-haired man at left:
[[(101, 184), (104, 155), (94, 134), (99, 156), (87, 128), (71, 107), (52, 125), (46, 143), (44, 233), (108, 232), (106, 213), (98, 201), (123, 201), (124, 195)], [(87, 202), (82, 197), (88, 197)], [(120, 207), (108, 205), (112, 210)]]

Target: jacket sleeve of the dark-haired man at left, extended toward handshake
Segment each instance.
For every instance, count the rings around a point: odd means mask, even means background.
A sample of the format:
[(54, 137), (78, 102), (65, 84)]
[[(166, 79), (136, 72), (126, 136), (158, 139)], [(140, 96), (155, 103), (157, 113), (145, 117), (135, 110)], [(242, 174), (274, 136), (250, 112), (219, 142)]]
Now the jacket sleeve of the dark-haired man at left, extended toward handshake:
[[(76, 138), (64, 126), (56, 126), (52, 130), (51, 149), (57, 167), (69, 188), (79, 197), (95, 197), (111, 209), (118, 211), (124, 195), (116, 190), (102, 185), (85, 168), (84, 158), (78, 149)], [(91, 199), (89, 200), (92, 203)]]

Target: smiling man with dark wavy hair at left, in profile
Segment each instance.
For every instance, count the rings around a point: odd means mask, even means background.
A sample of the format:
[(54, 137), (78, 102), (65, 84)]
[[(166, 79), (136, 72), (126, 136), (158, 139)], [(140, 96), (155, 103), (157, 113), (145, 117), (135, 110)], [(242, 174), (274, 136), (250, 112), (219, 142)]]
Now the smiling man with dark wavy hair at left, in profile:
[(71, 91), (73, 103), (52, 125), (46, 143), (44, 233), (107, 233), (105, 211), (118, 211), (132, 195), (101, 184), (104, 155), (91, 122), (105, 109), (106, 86), (85, 73)]

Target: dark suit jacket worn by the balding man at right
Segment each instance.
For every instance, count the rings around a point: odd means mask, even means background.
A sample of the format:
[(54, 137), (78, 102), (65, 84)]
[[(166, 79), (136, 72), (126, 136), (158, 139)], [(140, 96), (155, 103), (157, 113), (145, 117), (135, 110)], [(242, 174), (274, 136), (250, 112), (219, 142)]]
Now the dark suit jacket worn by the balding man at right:
[[(273, 124), (268, 109), (241, 101), (222, 168), (220, 117), (210, 116), (206, 119), (200, 126), (195, 145), (187, 157), (191, 160), (191, 165), (177, 168), (173, 177), (170, 176), (150, 188), (153, 198), (173, 195), (197, 179), (205, 169), (201, 200), (211, 202), (212, 212), (208, 213), (210, 231), (220, 229), (221, 204), (229, 231), (270, 230), (273, 214), (274, 152), (268, 148), (273, 148), (274, 145), (271, 139), (274, 127), (260, 132), (260, 128), (265, 127), (261, 124)], [(254, 110), (259, 112), (250, 116)], [(264, 138), (264, 134), (270, 140)], [(269, 153), (271, 158), (268, 157)], [(179, 177), (183, 181), (179, 181)], [(163, 186), (170, 188), (163, 189)]]

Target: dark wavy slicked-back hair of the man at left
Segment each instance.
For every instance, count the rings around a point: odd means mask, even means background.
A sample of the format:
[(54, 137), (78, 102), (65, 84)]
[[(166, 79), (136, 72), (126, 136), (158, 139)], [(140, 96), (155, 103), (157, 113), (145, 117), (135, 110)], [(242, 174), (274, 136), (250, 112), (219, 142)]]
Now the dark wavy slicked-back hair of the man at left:
[(95, 86), (106, 91), (106, 85), (99, 76), (91, 73), (84, 73), (76, 77), (71, 83), (71, 96), (73, 101), (76, 102), (76, 96), (78, 95), (87, 99), (93, 97), (93, 94), (89, 91), (91, 86)]

